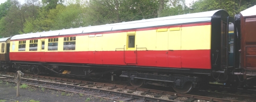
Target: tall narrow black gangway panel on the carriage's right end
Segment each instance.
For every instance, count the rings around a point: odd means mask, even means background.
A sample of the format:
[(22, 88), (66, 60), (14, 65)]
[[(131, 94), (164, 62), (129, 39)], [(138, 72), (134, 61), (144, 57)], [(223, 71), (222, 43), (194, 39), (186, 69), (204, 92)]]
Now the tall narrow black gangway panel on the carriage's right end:
[(228, 32), (227, 22), (221, 20), (221, 68), (227, 66), (228, 58)]

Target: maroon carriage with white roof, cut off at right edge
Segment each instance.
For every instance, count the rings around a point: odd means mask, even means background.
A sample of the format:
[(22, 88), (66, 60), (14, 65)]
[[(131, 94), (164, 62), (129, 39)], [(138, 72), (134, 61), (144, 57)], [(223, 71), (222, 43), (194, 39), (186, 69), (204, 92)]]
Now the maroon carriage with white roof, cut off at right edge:
[[(256, 85), (256, 5), (241, 11), (240, 14), (235, 16), (235, 36), (238, 38), (236, 41), (238, 46), (236, 54), (238, 58), (236, 66), (244, 69), (244, 71), (237, 72), (237, 74), (244, 75), (245, 81), (248, 86)], [(240, 58), (240, 59), (239, 59)]]

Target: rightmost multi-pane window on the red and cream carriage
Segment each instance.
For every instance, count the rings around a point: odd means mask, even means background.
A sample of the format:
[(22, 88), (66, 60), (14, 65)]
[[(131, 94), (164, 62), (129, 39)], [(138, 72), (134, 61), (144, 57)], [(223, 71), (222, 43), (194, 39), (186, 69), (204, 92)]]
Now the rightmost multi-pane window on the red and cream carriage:
[(75, 50), (76, 37), (65, 37), (63, 43), (63, 50)]

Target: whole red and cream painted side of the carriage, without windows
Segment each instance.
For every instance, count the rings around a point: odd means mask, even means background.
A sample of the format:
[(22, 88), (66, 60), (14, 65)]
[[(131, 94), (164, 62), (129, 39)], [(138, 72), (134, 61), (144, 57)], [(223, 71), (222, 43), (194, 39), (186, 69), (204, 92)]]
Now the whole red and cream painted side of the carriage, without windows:
[[(48, 46), (48, 38), (38, 39), (38, 51), (18, 52), (18, 41), (12, 40), (10, 59), (17, 61), (137, 65), (172, 68), (210, 69), (210, 22), (169, 27), (137, 29), (131, 32), (102, 32), (76, 35), (76, 49), (63, 50), (59, 36), (58, 50), (41, 50), (41, 40)], [(135, 35), (135, 48), (127, 48), (127, 36)], [(72, 36), (72, 35), (67, 35)], [(13, 48), (12, 48), (13, 47)], [(136, 48), (137, 47), (137, 48)], [(12, 50), (13, 49), (13, 50)]]

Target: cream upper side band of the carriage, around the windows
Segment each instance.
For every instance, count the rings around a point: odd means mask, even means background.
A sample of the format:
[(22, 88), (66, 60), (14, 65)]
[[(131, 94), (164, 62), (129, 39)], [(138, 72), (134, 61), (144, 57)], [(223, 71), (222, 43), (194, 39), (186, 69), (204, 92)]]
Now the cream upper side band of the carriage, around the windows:
[[(181, 31), (181, 38), (180, 32)], [(135, 34), (135, 48), (137, 50), (195, 50), (195, 49), (210, 49), (211, 25), (201, 25), (195, 27), (169, 28), (148, 31), (136, 31)], [(135, 32), (122, 32), (112, 34), (102, 34), (102, 36), (77, 36), (76, 50), (65, 50), (65, 52), (80, 52), (80, 51), (115, 51), (127, 49), (127, 35)], [(158, 34), (158, 35), (157, 35)], [(167, 34), (167, 35), (166, 35)], [(157, 42), (157, 37), (158, 41)], [(163, 39), (163, 40), (161, 40)], [(166, 40), (168, 39), (168, 41)], [(12, 43), (10, 52), (18, 52), (18, 41), (15, 42), (15, 50), (12, 50)], [(29, 51), (29, 40), (26, 41), (26, 51)], [(98, 43), (98, 44), (95, 44)], [(163, 43), (163, 44), (161, 44)], [(173, 45), (168, 45), (173, 44)], [(45, 39), (45, 52), (62, 52), (63, 51), (63, 37), (58, 39), (58, 51), (48, 51), (48, 39)], [(97, 47), (97, 48), (96, 48)], [(101, 48), (99, 48), (101, 47)], [(38, 51), (41, 48), (41, 41), (38, 40)], [(135, 49), (129, 49), (135, 50)]]

